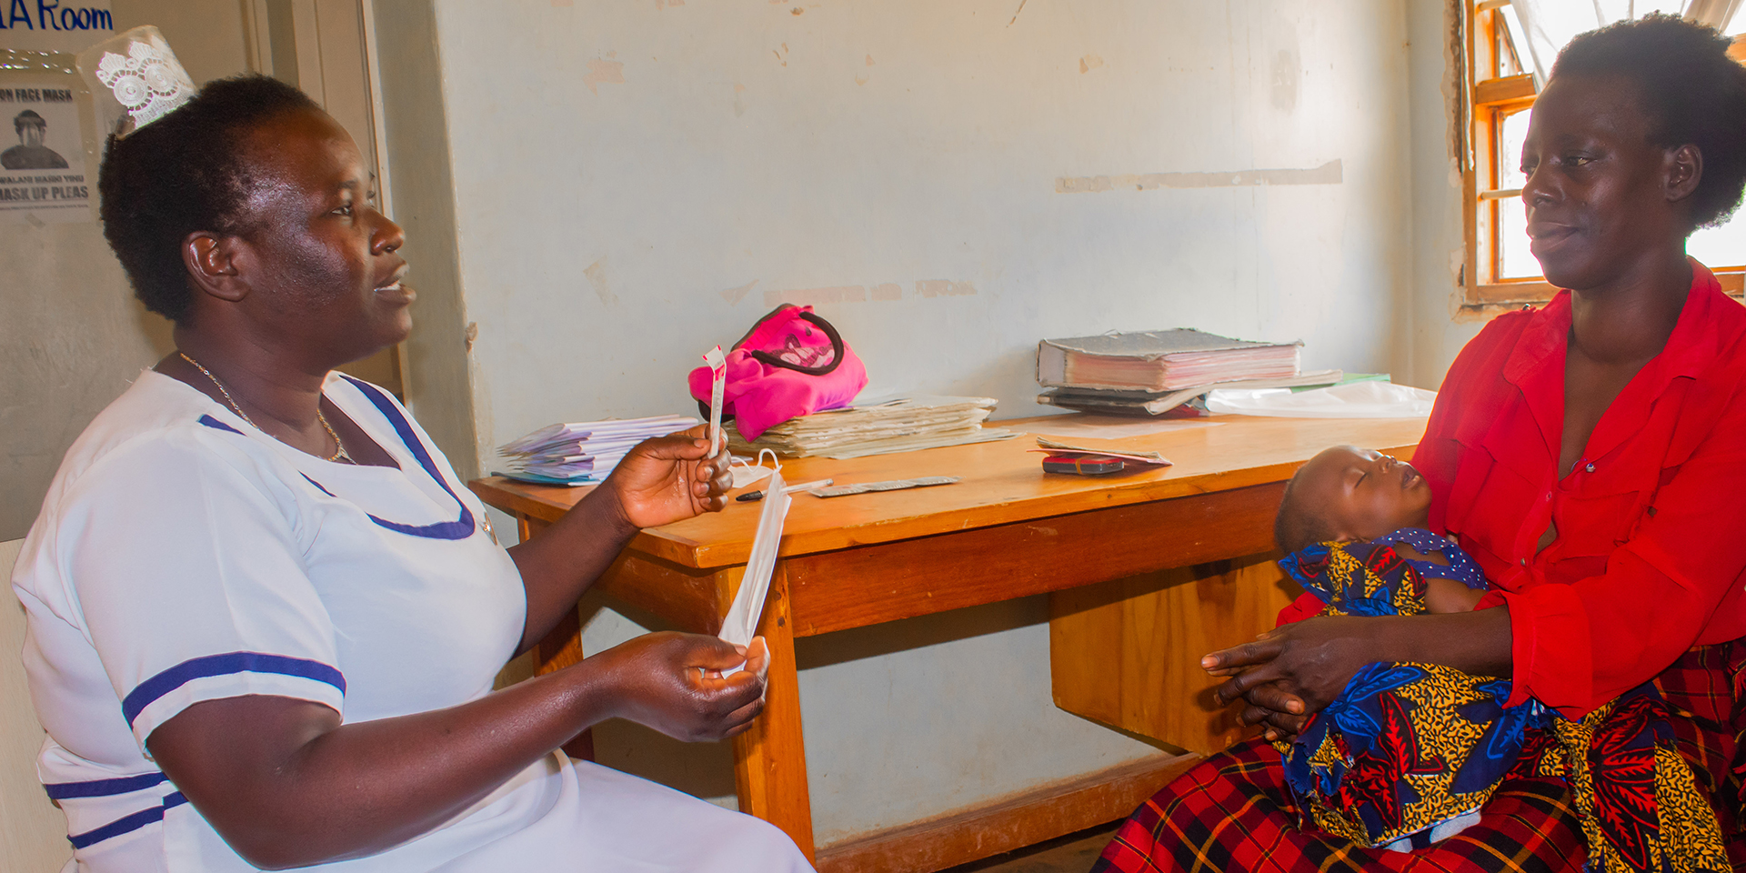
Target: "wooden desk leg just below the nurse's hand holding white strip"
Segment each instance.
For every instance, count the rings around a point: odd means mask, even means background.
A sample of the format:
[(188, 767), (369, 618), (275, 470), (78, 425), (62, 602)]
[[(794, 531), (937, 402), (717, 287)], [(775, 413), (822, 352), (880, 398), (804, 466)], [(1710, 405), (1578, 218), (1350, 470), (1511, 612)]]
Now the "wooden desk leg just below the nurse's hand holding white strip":
[[(735, 576), (744, 567), (732, 571)], [(723, 590), (726, 574), (718, 576)], [(721, 604), (732, 604), (723, 597)], [(751, 730), (733, 737), (733, 784), (740, 794), (740, 812), (758, 815), (794, 838), (794, 845), (814, 859), (812, 796), (807, 793), (807, 744), (800, 732), (800, 676), (794, 670), (794, 620), (789, 609), (787, 578), (782, 564), (770, 580), (758, 632), (770, 646), (770, 677), (765, 711)]]

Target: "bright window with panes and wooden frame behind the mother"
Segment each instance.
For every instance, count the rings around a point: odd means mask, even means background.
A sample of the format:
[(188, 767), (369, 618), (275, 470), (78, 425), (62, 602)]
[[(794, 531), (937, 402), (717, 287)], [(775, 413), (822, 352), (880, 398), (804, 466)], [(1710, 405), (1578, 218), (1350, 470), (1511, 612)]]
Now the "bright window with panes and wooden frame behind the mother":
[[(1587, 2), (1587, 0), (1584, 0)], [(1550, 300), (1540, 262), (1528, 250), (1528, 217), (1521, 201), (1521, 150), (1533, 113), (1535, 80), (1521, 19), (1509, 0), (1467, 0), (1468, 124), (1467, 124), (1467, 267), (1470, 306)], [(1681, 3), (1659, 3), (1678, 12)], [(1648, 10), (1639, 3), (1638, 12)], [(1725, 28), (1734, 58), (1746, 61), (1746, 14)], [(1746, 210), (1722, 227), (1692, 234), (1687, 253), (1741, 293), (1746, 272)]]

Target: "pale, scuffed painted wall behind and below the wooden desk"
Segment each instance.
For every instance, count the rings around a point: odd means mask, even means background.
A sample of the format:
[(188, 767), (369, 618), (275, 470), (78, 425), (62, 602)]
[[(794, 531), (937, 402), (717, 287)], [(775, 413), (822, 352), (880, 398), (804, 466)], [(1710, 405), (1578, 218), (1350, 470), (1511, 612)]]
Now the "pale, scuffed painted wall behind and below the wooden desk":
[[(1044, 335), (1191, 325), (1301, 337), (1310, 367), (1407, 365), (1404, 3), (435, 10), (480, 449), (691, 409), (704, 349), (842, 288), (866, 299), (819, 311), (871, 389), (988, 395), (1002, 416), (1039, 412)], [(1056, 190), (1330, 161), (1337, 183)], [(805, 641), (819, 840), (1152, 753), (1049, 704), (1044, 622), (1028, 599)], [(636, 630), (601, 611), (585, 643)], [(719, 747), (609, 726), (601, 751), (732, 791)]]

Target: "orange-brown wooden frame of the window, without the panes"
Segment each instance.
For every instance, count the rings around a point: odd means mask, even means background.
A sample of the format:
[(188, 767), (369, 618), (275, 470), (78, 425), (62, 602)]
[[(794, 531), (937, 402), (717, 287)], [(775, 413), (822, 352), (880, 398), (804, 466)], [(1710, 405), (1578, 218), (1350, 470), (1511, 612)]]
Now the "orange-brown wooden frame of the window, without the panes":
[[(1503, 119), (1533, 107), (1533, 73), (1496, 75), (1500, 70), (1496, 47), (1498, 30), (1505, 28), (1500, 0), (1458, 0), (1465, 12), (1465, 70), (1467, 86), (1465, 152), (1461, 173), (1461, 220), (1467, 234), (1467, 260), (1461, 271), (1463, 302), (1467, 309), (1517, 309), (1524, 304), (1543, 304), (1557, 288), (1542, 278), (1507, 279), (1498, 276), (1500, 210), (1517, 206), (1519, 190), (1500, 190), (1498, 134)], [(1521, 61), (1528, 63), (1526, 47), (1517, 47)], [(1734, 38), (1729, 54), (1746, 63), (1746, 35)], [(1746, 292), (1746, 267), (1720, 267), (1716, 279), (1722, 290), (1739, 297)]]

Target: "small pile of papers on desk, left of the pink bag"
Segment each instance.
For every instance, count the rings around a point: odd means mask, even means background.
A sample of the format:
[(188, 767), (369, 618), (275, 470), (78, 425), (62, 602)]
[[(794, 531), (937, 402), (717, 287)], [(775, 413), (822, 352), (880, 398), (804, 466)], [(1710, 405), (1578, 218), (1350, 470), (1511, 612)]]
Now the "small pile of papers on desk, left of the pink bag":
[(498, 475), (540, 485), (590, 485), (604, 480), (636, 443), (695, 424), (690, 416), (552, 424), (499, 445), (508, 470)]

